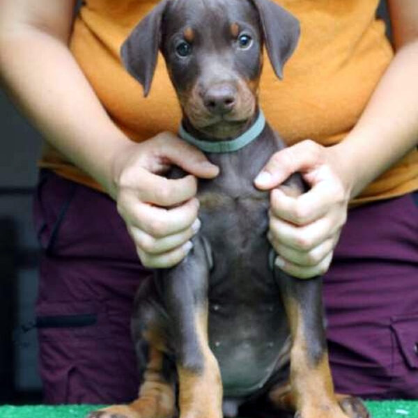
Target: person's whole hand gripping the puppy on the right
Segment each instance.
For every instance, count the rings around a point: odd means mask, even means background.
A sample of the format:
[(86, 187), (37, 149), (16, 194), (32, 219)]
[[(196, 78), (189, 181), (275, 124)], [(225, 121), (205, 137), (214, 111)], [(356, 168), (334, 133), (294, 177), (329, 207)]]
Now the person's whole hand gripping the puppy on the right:
[[(268, 239), (278, 256), (276, 265), (288, 274), (309, 279), (327, 272), (350, 199), (351, 178), (339, 146), (325, 148), (302, 141), (272, 155), (254, 181), (272, 189)], [(300, 172), (311, 187), (292, 197), (279, 186)]]

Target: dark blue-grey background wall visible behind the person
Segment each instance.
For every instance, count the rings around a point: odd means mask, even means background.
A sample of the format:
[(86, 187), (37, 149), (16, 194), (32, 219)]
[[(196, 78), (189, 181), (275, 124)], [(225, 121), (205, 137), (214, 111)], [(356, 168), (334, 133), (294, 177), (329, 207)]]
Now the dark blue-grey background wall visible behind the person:
[[(387, 17), (385, 4), (380, 15)], [(31, 194), (41, 137), (0, 91), (0, 403), (40, 401), (34, 320), (38, 247)]]

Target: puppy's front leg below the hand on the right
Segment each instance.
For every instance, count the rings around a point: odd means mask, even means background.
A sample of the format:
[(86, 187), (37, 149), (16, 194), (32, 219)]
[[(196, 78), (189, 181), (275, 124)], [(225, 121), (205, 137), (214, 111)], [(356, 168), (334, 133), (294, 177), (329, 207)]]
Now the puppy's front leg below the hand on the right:
[(301, 418), (347, 418), (336, 396), (323, 325), (322, 279), (300, 280), (275, 271), (291, 329), (291, 392)]

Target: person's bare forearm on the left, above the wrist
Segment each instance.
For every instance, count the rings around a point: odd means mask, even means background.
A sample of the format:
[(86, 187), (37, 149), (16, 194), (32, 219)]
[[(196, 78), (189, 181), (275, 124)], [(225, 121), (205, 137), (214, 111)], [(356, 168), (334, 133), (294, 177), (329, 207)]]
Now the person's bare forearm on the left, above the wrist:
[(67, 45), (36, 28), (20, 28), (1, 36), (0, 72), (45, 139), (112, 194), (112, 158), (129, 143)]

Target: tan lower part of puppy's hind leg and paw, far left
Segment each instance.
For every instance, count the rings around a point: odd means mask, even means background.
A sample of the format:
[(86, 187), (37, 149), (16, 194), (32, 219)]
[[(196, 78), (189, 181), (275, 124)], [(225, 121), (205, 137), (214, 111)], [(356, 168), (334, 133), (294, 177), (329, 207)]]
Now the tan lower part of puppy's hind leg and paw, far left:
[(150, 346), (144, 382), (139, 398), (127, 405), (113, 405), (95, 412), (88, 418), (173, 418), (176, 414), (174, 382), (164, 377), (164, 353)]

